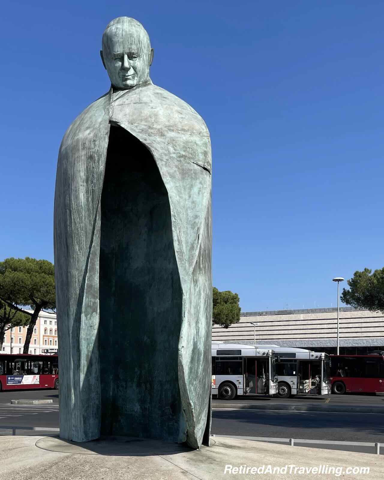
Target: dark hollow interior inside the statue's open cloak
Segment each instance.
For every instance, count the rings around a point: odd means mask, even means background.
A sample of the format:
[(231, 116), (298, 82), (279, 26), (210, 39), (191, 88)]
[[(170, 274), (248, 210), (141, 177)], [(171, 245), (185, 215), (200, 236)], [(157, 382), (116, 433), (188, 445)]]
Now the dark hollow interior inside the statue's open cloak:
[(177, 442), (180, 276), (168, 192), (150, 151), (112, 126), (101, 195), (101, 434)]

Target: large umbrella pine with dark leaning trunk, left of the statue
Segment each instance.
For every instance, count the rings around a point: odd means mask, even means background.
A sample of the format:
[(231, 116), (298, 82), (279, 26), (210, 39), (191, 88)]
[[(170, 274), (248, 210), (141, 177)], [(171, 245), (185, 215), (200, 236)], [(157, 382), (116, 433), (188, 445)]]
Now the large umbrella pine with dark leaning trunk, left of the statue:
[(30, 317), (23, 351), (28, 353), (40, 311), (54, 310), (56, 306), (53, 264), (30, 257), (6, 258), (0, 262), (0, 300), (12, 311)]

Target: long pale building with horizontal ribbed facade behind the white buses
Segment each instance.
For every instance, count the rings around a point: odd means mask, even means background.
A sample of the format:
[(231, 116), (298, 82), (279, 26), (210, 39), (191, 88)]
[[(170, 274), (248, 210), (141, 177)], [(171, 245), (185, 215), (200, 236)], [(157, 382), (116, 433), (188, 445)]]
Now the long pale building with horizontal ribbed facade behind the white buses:
[[(242, 312), (240, 322), (228, 329), (212, 328), (212, 340), (253, 343), (253, 325), (256, 325), (256, 343), (287, 347), (322, 347), (327, 353), (336, 353), (337, 308), (280, 310), (272, 312)], [(380, 312), (340, 307), (340, 355), (364, 354), (384, 350), (384, 315)]]

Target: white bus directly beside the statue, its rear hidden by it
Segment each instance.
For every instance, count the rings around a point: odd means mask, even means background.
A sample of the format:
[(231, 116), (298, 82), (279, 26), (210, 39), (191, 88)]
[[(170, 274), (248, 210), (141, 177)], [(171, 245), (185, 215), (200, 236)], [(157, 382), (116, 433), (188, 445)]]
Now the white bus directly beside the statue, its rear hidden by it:
[(212, 394), (275, 395), (277, 357), (271, 348), (212, 342)]

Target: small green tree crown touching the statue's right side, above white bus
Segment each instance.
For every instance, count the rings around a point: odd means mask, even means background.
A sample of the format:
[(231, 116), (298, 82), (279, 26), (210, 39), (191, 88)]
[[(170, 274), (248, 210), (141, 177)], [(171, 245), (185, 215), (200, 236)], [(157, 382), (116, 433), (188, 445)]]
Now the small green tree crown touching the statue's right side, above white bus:
[(229, 328), (230, 325), (240, 322), (239, 295), (230, 290), (220, 292), (213, 288), (212, 324)]

